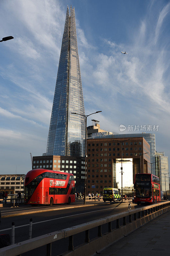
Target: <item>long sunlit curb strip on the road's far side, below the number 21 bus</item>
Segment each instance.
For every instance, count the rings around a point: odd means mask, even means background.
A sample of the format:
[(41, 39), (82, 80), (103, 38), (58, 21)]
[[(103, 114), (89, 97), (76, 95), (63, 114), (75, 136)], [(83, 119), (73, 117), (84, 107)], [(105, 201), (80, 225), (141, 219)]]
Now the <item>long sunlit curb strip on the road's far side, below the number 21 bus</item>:
[[(102, 202), (104, 203), (104, 202)], [(123, 202), (126, 203), (126, 202)], [(19, 213), (14, 213), (10, 215), (4, 215), (1, 216), (1, 218), (9, 218), (9, 217), (15, 217), (15, 216), (20, 216), (20, 215), (26, 215), (26, 214), (32, 214), (32, 213), (39, 213), (39, 212), (52, 212), (52, 211), (59, 211), (59, 210), (65, 210), (65, 209), (73, 209), (73, 208), (80, 208), (80, 207), (89, 207), (89, 206), (96, 206), (101, 203), (95, 203), (95, 204), (86, 204), (86, 205), (73, 205), (70, 207), (61, 207), (61, 208), (53, 208), (53, 209), (44, 209), (44, 210), (36, 210), (36, 211), (31, 211), (31, 212), (19, 212)], [(105, 203), (104, 203), (105, 204)]]

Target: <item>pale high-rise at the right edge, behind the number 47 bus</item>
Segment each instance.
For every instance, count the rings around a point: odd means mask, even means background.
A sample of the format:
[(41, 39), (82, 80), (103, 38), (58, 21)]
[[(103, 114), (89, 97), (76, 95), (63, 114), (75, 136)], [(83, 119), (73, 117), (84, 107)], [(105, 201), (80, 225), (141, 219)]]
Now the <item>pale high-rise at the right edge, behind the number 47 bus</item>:
[(160, 178), (160, 190), (169, 195), (168, 156), (165, 156), (165, 152), (156, 152), (155, 162), (156, 176)]

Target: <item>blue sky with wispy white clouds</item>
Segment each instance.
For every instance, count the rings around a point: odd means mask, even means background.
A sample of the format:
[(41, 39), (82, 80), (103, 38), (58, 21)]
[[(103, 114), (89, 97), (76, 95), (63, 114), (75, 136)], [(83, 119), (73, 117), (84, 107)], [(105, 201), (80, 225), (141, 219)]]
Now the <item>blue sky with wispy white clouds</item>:
[(88, 125), (159, 125), (156, 150), (170, 156), (169, 1), (1, 0), (0, 37), (14, 39), (0, 43), (0, 173), (26, 173), (30, 152), (46, 152), (67, 4), (85, 112), (102, 110)]

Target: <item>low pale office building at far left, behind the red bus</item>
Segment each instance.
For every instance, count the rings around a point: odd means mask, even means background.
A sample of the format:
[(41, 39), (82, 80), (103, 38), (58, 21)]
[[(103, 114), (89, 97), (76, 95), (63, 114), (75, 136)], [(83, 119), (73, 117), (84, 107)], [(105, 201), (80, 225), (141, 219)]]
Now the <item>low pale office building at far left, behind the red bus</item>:
[(0, 192), (7, 191), (8, 194), (24, 193), (25, 174), (0, 174)]

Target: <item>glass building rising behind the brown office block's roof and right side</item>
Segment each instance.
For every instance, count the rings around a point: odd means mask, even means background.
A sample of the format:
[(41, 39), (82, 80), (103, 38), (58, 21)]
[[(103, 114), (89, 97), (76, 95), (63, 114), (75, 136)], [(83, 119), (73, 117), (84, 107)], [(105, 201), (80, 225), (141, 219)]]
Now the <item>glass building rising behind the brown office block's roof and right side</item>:
[[(96, 132), (91, 138), (134, 138), (144, 137), (150, 145), (150, 159), (152, 164), (152, 173), (155, 174), (155, 134), (153, 133), (129, 133), (129, 134), (107, 134), (107, 132)], [(144, 153), (147, 153), (144, 151)], [(148, 164), (148, 172), (151, 172), (151, 164)]]

